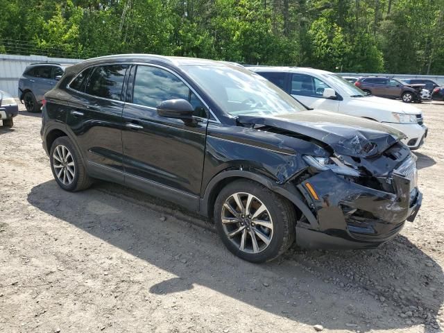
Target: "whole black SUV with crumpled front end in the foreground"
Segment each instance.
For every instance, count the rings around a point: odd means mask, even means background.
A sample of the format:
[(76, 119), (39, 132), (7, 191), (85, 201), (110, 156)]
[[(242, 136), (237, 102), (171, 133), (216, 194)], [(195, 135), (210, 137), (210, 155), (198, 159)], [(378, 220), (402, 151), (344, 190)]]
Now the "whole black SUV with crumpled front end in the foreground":
[(45, 95), (58, 185), (110, 180), (214, 221), (232, 253), (373, 248), (418, 212), (416, 162), (375, 121), (307, 110), (239, 65), (148, 55), (69, 67)]

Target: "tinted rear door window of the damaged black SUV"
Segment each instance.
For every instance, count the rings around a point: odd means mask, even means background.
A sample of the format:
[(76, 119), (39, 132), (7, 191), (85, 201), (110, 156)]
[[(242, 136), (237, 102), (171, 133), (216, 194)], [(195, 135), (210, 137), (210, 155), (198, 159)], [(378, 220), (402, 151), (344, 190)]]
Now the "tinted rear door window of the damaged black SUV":
[(85, 92), (89, 95), (121, 101), (123, 78), (128, 65), (106, 65), (94, 69)]

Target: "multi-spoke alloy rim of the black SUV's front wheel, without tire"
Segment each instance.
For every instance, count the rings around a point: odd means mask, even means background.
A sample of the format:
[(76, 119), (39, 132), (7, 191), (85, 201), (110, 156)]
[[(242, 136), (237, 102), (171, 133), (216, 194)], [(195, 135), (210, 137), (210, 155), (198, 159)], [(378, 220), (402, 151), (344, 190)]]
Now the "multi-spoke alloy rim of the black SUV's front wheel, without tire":
[(273, 220), (253, 194), (235, 193), (222, 206), (222, 227), (230, 241), (245, 253), (265, 250), (273, 238)]

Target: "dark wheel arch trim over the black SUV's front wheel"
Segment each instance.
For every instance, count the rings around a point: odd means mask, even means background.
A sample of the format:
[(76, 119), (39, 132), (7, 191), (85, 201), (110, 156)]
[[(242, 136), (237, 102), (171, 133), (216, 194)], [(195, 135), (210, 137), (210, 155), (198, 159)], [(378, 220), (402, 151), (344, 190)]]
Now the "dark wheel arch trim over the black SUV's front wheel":
[(203, 216), (207, 216), (210, 221), (213, 217), (213, 207), (216, 201), (217, 195), (223, 187), (228, 185), (234, 180), (249, 179), (264, 185), (271, 191), (280, 194), (284, 198), (287, 198), (296, 209), (298, 209), (309, 221), (311, 227), (318, 228), (318, 221), (316, 216), (311, 212), (309, 207), (304, 203), (302, 196), (298, 193), (298, 190), (294, 185), (286, 183), (287, 186), (278, 185), (275, 181), (267, 176), (251, 171), (244, 171), (239, 169), (221, 171), (210, 182), (208, 182), (203, 197), (200, 198), (199, 212)]

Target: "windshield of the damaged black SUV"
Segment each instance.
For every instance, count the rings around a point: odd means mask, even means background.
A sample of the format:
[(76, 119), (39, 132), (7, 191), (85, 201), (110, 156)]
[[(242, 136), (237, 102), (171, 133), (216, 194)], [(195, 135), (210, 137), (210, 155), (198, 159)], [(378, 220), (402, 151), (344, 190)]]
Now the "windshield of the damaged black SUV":
[(233, 116), (274, 116), (307, 110), (266, 78), (237, 65), (180, 67), (223, 111)]

